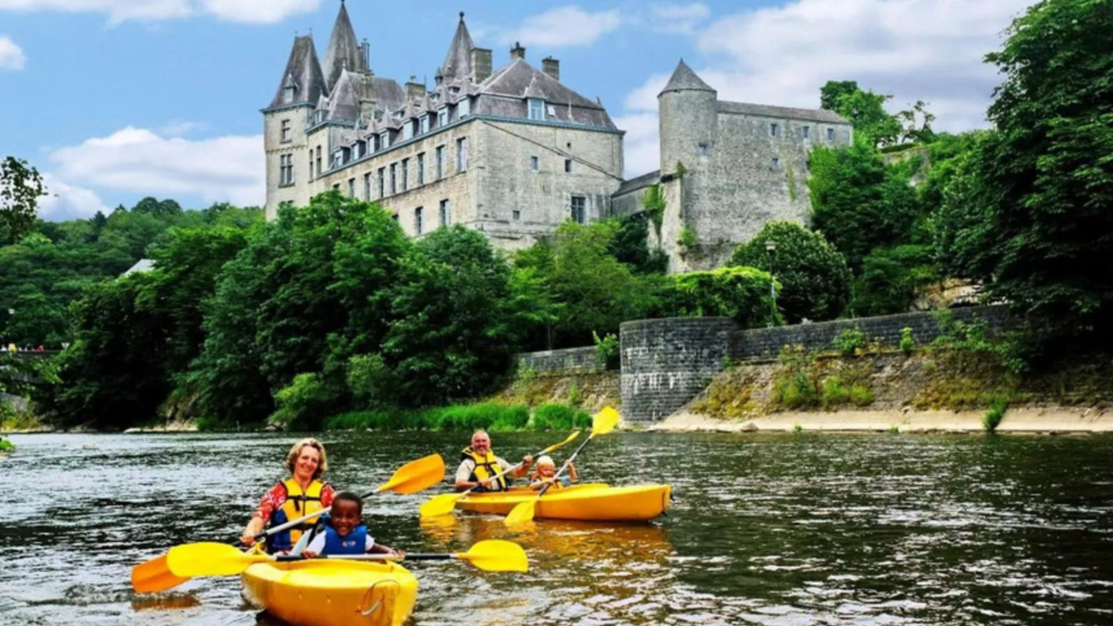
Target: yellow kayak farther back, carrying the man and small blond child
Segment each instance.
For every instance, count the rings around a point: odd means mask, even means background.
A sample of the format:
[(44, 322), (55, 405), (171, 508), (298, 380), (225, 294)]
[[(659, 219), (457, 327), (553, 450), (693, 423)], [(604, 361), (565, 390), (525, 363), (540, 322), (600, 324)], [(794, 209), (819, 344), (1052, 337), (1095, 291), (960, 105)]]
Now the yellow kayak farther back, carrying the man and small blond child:
[[(550, 489), (538, 500), (535, 518), (584, 521), (647, 521), (669, 507), (669, 485), (610, 487), (605, 483), (573, 485)], [(513, 490), (469, 493), (456, 508), (481, 513), (506, 515), (515, 505), (535, 499), (536, 491)]]

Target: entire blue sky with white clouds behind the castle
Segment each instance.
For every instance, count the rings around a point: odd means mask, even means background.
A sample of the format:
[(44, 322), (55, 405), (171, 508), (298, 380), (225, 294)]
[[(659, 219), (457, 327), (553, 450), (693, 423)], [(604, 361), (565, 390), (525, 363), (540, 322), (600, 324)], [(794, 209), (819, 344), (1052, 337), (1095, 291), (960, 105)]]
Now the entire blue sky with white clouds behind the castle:
[[(296, 35), (324, 58), (339, 0), (0, 0), (0, 156), (51, 192), (45, 219), (144, 196), (265, 199), (263, 116)], [(827, 80), (924, 100), (936, 130), (984, 128), (985, 65), (1031, 0), (347, 0), (377, 76), (432, 84), (465, 12), (477, 47), (561, 61), (627, 131), (626, 174), (658, 168), (657, 94), (679, 59), (723, 100), (818, 108)], [(385, 9), (385, 10), (384, 10)]]

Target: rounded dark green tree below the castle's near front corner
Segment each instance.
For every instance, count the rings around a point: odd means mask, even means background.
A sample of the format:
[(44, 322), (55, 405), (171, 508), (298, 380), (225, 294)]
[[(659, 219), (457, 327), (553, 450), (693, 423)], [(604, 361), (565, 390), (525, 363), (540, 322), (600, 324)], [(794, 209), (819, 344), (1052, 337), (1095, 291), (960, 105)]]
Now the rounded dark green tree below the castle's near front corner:
[(474, 398), (503, 380), (518, 349), (511, 268), (481, 233), (437, 228), (403, 257), (382, 354), (398, 404)]

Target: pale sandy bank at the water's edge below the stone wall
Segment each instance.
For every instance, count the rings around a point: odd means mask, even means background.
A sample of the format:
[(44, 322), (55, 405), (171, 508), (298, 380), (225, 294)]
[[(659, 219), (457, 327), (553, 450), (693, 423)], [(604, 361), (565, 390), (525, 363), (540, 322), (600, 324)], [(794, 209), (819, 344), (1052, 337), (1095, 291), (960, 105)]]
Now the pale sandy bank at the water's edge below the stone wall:
[[(833, 411), (772, 413), (726, 421), (691, 412), (676, 413), (647, 428), (651, 431), (792, 432), (984, 432), (985, 411)], [(1113, 432), (1113, 414), (1096, 409), (1009, 409), (997, 426), (1001, 433)]]

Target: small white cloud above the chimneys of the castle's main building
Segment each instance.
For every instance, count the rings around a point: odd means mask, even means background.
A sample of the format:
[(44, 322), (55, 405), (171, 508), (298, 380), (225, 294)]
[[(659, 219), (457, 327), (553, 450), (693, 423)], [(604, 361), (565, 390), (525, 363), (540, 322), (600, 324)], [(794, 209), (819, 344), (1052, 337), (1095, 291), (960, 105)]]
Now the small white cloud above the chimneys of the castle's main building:
[(526, 48), (591, 46), (621, 23), (618, 9), (589, 13), (571, 4), (525, 18), (515, 29), (498, 29), (495, 37), (501, 43), (519, 41)]

